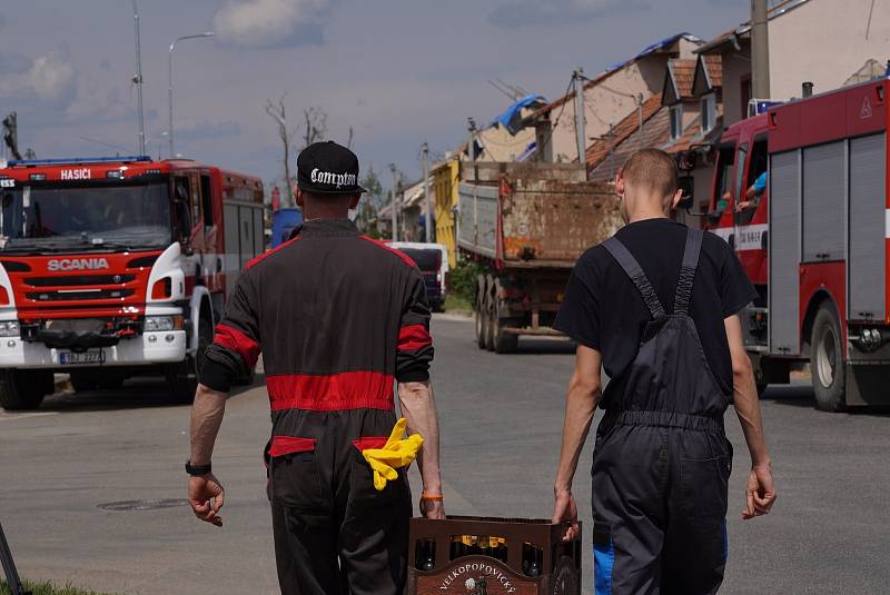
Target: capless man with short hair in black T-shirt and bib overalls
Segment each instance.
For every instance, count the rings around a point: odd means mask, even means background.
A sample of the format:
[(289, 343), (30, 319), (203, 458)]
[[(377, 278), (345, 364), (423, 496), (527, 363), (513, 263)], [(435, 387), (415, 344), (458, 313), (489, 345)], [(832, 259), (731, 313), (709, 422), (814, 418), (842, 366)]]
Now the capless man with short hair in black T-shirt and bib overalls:
[(722, 239), (668, 219), (676, 178), (662, 151), (631, 156), (615, 180), (627, 225), (578, 259), (554, 325), (577, 341), (554, 485), (553, 520), (567, 537), (577, 532), (577, 460), (597, 405), (605, 409), (593, 455), (597, 595), (718, 591), (730, 404), (752, 462), (743, 518), (775, 499), (738, 316), (756, 292)]

